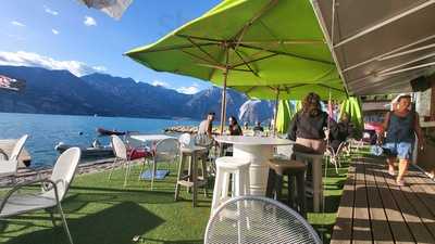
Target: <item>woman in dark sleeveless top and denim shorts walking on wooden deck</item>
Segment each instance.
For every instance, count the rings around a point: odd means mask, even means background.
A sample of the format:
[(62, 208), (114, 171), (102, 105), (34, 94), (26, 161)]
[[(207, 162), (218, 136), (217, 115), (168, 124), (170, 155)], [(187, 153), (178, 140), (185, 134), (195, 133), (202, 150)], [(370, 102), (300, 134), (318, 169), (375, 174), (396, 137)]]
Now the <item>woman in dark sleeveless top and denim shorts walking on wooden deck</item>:
[[(424, 138), (419, 124), (419, 115), (410, 110), (411, 97), (400, 95), (397, 103), (393, 105), (393, 111), (388, 112), (384, 120), (384, 131), (386, 131), (384, 150), (387, 154), (388, 174), (395, 176), (395, 162), (399, 159), (399, 172), (396, 182), (405, 185), (403, 176), (408, 170), (411, 160), (415, 134), (419, 139), (420, 149), (423, 149)], [(383, 133), (381, 133), (383, 134)]]

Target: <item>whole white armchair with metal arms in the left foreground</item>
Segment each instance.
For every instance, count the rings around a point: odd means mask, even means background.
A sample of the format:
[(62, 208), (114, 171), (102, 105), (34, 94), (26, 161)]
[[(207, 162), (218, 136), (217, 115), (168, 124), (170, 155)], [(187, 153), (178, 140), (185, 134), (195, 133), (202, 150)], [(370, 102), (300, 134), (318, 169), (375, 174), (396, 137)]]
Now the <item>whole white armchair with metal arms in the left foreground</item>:
[[(50, 214), (53, 226), (55, 226), (53, 210), (54, 208), (58, 208), (69, 242), (70, 244), (73, 244), (73, 239), (70, 234), (61, 202), (65, 197), (70, 184), (73, 181), (79, 159), (80, 150), (78, 147), (71, 147), (59, 156), (49, 179), (40, 179), (16, 184), (5, 194), (4, 198), (1, 200), (0, 219), (46, 209)], [(28, 187), (35, 183), (42, 184), (41, 192), (37, 194), (17, 193), (17, 191), (23, 187)]]

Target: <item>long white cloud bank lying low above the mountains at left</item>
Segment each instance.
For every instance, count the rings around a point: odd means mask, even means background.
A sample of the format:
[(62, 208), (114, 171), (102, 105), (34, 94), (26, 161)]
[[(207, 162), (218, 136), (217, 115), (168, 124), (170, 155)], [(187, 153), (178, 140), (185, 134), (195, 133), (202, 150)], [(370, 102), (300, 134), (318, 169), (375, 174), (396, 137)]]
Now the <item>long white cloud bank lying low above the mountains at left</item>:
[(76, 76), (107, 70), (103, 66), (90, 66), (79, 61), (58, 61), (49, 56), (33, 52), (2, 52), (0, 51), (0, 65), (37, 66), (48, 69), (66, 69)]

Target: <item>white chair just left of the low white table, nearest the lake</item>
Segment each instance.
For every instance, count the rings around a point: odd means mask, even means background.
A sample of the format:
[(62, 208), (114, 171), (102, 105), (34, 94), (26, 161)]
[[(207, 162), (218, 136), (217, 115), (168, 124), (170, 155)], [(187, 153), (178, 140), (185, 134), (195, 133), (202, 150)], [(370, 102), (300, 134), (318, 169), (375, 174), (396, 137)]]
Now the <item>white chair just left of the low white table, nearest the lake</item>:
[(132, 169), (130, 157), (129, 157), (130, 155), (128, 155), (127, 147), (125, 146), (124, 142), (121, 140), (120, 137), (115, 134), (112, 136), (112, 146), (115, 159), (112, 163), (112, 169), (110, 170), (109, 174), (109, 180), (112, 178), (112, 174), (116, 167), (116, 164), (121, 162), (122, 166), (125, 168), (124, 184), (123, 184), (123, 187), (125, 188), (127, 187), (127, 179)]

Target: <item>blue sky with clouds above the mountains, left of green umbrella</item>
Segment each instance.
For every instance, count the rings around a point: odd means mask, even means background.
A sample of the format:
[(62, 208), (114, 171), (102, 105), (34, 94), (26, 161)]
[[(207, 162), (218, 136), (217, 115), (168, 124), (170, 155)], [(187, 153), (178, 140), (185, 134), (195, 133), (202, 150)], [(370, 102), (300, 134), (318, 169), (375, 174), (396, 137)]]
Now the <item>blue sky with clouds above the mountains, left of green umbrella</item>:
[(69, 68), (77, 75), (104, 70), (192, 93), (210, 84), (153, 72), (122, 53), (158, 40), (219, 2), (135, 0), (121, 21), (115, 21), (77, 0), (3, 0), (0, 64)]

